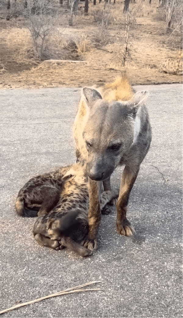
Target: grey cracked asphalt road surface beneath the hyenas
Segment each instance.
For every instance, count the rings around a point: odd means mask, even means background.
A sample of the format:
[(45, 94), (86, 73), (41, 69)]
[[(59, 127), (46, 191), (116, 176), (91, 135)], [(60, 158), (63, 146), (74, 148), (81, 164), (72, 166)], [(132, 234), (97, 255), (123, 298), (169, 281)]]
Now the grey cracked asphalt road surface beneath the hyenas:
[[(116, 211), (102, 216), (99, 249), (81, 258), (40, 247), (34, 218), (14, 211), (30, 177), (75, 160), (72, 124), (79, 88), (1, 90), (0, 310), (91, 280), (99, 292), (51, 298), (1, 317), (182, 317), (182, 90), (149, 90), (151, 149), (130, 196), (132, 239), (116, 232)], [(122, 168), (112, 176), (118, 188)]]

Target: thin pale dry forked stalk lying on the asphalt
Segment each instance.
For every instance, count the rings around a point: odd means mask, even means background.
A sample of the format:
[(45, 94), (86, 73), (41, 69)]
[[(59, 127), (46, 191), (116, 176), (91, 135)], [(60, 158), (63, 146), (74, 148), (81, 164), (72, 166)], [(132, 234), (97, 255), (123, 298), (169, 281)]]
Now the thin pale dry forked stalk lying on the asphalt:
[[(13, 307), (10, 307), (10, 308), (7, 308), (7, 309), (4, 309), (4, 310), (0, 311), (0, 315), (4, 314), (4, 313), (7, 313), (8, 311), (11, 311), (11, 310), (23, 307), (23, 306), (31, 305), (31, 304), (34, 304), (35, 302), (42, 301), (44, 299), (51, 298), (51, 297), (56, 297), (56, 296), (65, 295), (65, 294), (71, 294), (71, 293), (92, 291), (92, 290), (102, 290), (101, 288), (89, 288), (89, 289), (87, 289), (87, 288), (86, 289), (82, 289), (81, 288), (81, 287), (85, 287), (85, 286), (92, 285), (92, 284), (95, 284), (95, 283), (100, 283), (100, 282), (101, 281), (97, 281), (97, 280), (96, 281), (90, 281), (89, 283), (86, 283), (86, 284), (83, 284), (83, 285), (79, 285), (79, 286), (75, 286), (75, 287), (71, 287), (71, 288), (67, 288), (67, 289), (62, 290), (61, 292), (58, 292), (58, 293), (50, 294), (50, 295), (47, 295), (47, 296), (44, 296), (44, 297), (41, 297), (41, 298), (37, 298), (37, 299), (31, 300), (31, 301), (23, 302), (22, 304), (18, 304), (18, 305), (15, 305)], [(80, 289), (78, 289), (78, 288), (80, 288)]]

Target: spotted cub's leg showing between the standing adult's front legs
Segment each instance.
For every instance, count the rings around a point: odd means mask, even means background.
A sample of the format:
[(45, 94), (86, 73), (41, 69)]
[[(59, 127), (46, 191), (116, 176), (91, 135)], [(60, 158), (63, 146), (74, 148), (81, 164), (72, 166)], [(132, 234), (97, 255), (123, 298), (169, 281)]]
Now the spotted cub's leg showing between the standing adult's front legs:
[(109, 205), (115, 205), (117, 202), (119, 193), (114, 191), (103, 191), (101, 193), (101, 199), (100, 199), (100, 206), (101, 206), (101, 213), (102, 214), (109, 214), (110, 213), (110, 207)]

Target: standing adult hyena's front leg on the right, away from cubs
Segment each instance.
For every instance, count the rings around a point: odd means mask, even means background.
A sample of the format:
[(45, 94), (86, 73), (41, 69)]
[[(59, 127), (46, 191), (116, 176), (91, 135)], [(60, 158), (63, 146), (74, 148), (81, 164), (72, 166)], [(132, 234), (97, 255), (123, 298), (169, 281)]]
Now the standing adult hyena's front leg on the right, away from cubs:
[(121, 235), (132, 236), (135, 233), (133, 226), (126, 218), (128, 200), (130, 196), (130, 191), (133, 188), (133, 184), (137, 178), (139, 171), (139, 167), (135, 169), (130, 169), (130, 167), (125, 166), (120, 191), (119, 191), (119, 198), (116, 204), (117, 208), (117, 231)]

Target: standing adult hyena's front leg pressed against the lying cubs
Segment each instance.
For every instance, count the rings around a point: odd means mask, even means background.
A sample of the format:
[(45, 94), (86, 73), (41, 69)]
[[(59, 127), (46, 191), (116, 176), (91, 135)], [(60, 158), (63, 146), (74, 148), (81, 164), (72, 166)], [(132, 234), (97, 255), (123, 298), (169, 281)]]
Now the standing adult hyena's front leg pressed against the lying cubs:
[(91, 180), (88, 178), (88, 194), (89, 194), (89, 210), (88, 210), (88, 224), (89, 232), (88, 238), (84, 242), (84, 246), (91, 251), (98, 248), (97, 234), (101, 220), (100, 210), (100, 190), (101, 182)]

